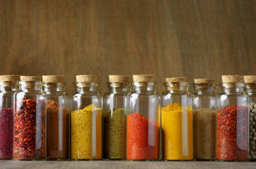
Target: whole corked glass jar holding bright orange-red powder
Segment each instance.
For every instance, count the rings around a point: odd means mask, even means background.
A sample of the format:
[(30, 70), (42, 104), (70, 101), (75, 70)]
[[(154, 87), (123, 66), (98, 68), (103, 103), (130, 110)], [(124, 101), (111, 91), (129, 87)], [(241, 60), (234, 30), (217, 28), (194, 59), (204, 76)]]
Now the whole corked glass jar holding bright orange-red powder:
[(128, 94), (127, 160), (159, 159), (160, 105), (155, 75), (133, 75)]

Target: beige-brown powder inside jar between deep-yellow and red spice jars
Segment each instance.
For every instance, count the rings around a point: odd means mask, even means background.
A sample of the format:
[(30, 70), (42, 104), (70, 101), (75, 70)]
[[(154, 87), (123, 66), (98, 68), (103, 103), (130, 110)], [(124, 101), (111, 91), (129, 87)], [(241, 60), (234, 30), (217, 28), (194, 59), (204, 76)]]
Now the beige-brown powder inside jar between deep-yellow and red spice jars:
[(194, 158), (214, 160), (216, 157), (216, 111), (200, 108), (194, 111)]

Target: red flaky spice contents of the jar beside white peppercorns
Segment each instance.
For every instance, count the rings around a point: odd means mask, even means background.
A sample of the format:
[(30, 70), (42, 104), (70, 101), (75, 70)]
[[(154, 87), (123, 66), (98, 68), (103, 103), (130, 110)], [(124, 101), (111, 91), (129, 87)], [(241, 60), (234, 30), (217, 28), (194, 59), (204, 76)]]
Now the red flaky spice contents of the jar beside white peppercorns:
[(217, 112), (217, 160), (248, 160), (248, 107), (233, 105)]

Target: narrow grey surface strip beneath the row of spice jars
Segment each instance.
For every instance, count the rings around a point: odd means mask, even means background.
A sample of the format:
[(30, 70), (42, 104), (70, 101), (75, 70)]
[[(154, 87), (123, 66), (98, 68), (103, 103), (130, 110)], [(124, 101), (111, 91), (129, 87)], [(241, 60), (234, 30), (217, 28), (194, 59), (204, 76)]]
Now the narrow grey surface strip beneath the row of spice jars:
[(217, 162), (217, 161), (13, 161), (0, 160), (0, 168), (23, 169), (63, 169), (63, 168), (89, 168), (89, 169), (162, 169), (162, 168), (256, 168), (256, 162)]

